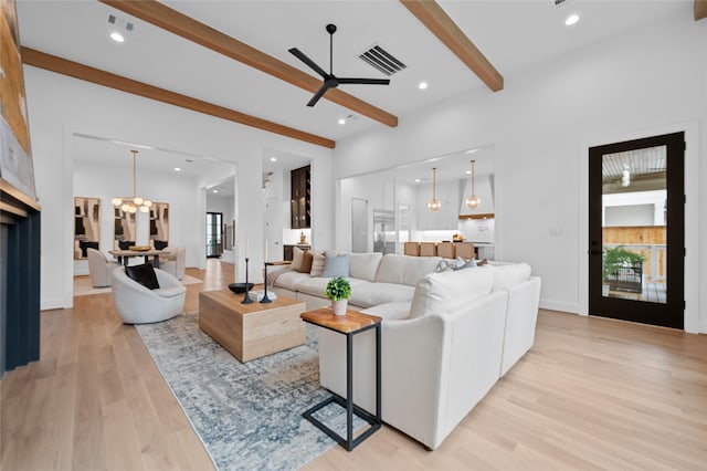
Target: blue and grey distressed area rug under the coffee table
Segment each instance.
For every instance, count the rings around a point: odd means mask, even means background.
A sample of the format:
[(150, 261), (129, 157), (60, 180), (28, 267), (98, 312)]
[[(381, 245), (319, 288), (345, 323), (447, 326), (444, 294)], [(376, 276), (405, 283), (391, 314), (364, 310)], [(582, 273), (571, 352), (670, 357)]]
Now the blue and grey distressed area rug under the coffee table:
[[(316, 327), (307, 325), (305, 345), (245, 364), (199, 329), (198, 314), (136, 327), (218, 470), (294, 470), (336, 444), (302, 417), (329, 395)], [(317, 418), (345, 433), (342, 408)]]

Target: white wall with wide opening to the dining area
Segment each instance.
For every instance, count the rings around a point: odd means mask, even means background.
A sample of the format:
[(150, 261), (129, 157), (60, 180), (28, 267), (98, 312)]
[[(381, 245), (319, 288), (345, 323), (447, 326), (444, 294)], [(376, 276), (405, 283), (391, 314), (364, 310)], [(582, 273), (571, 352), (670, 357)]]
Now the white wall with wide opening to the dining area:
[[(36, 192), (42, 206), (41, 308), (73, 304), (73, 134), (217, 158), (238, 164), (235, 218), (251, 233), (251, 250), (263, 253), (262, 198), (264, 148), (308, 156), (313, 166), (313, 239), (333, 245), (331, 150), (215, 117), (126, 94), (67, 76), (24, 66)], [(196, 198), (205, 211), (203, 190)], [(176, 208), (175, 208), (176, 209)], [(200, 224), (203, 226), (203, 224)], [(238, 243), (238, 242), (236, 242)], [(242, 247), (242, 244), (241, 244)], [(203, 250), (203, 249), (202, 249)], [(260, 265), (262, 255), (252, 263)], [(236, 276), (244, 262), (238, 258)], [(262, 274), (253, 271), (255, 278)], [(255, 280), (258, 281), (258, 280)]]

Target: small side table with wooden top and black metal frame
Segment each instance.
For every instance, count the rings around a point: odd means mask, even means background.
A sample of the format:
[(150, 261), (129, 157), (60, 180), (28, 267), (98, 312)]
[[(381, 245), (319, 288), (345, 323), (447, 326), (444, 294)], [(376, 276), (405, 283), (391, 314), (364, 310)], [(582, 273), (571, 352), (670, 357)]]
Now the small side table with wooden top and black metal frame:
[[(309, 311), (299, 315), (303, 321), (309, 324), (317, 325), (319, 327), (328, 328), (329, 331), (338, 332), (346, 335), (346, 398), (342, 398), (336, 394), (331, 394), (331, 397), (317, 404), (313, 408), (306, 410), (303, 417), (309, 420), (315, 427), (328, 435), (333, 440), (339, 443), (341, 447), (351, 451), (361, 441), (370, 437), (376, 430), (380, 429), (382, 423), (380, 411), (380, 322), (381, 317), (374, 315), (362, 314), (356, 311), (347, 311), (346, 315), (336, 315), (330, 307), (323, 307), (316, 311)], [(354, 405), (354, 335), (376, 329), (376, 415), (373, 416), (367, 410)], [(346, 408), (346, 438), (339, 436), (329, 427), (317, 420), (313, 415), (328, 406), (331, 402), (336, 402), (339, 406)], [(354, 414), (359, 418), (366, 420), (370, 427), (358, 437), (354, 438)]]

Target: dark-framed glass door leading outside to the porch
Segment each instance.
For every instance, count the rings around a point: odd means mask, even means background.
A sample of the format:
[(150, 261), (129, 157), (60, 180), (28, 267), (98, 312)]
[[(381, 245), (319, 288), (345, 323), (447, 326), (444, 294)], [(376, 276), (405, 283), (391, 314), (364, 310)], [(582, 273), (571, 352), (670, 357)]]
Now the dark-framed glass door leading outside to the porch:
[(683, 328), (684, 133), (589, 149), (589, 314)]

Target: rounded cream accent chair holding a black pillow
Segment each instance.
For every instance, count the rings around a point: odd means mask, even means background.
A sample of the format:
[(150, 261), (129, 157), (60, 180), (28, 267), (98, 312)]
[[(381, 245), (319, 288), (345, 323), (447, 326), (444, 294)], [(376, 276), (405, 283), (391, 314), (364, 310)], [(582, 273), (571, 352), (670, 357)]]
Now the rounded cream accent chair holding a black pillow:
[(125, 270), (113, 272), (113, 304), (125, 324), (167, 321), (182, 313), (187, 289), (171, 274), (155, 269), (159, 287), (150, 290), (130, 280)]

